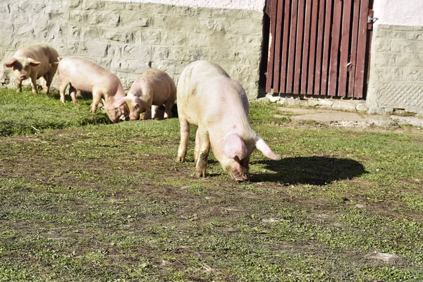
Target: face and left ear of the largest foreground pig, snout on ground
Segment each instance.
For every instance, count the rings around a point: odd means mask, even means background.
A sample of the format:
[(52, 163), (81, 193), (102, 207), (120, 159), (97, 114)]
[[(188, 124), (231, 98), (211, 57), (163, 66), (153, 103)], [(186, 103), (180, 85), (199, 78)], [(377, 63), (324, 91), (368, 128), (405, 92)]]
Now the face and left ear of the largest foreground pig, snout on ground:
[(224, 158), (221, 164), (225, 171), (236, 181), (248, 179), (248, 163), (252, 149), (245, 145), (244, 140), (237, 134), (225, 137), (223, 145)]

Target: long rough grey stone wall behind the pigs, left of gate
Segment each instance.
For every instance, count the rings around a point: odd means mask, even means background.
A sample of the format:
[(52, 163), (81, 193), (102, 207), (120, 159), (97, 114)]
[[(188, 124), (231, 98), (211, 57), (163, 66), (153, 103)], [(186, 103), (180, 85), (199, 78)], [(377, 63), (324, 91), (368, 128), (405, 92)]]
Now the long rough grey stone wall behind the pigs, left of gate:
[(0, 84), (9, 84), (4, 61), (17, 49), (50, 44), (62, 57), (84, 56), (116, 73), (126, 90), (149, 68), (177, 81), (188, 63), (204, 59), (219, 63), (249, 99), (257, 98), (262, 12), (99, 0), (4, 1)]

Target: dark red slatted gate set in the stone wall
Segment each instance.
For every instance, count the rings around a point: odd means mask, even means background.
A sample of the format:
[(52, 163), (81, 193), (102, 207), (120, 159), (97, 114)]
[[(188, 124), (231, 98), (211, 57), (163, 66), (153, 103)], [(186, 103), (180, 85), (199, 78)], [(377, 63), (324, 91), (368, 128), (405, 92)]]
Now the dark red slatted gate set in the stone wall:
[(266, 92), (363, 98), (372, 0), (267, 0)]

